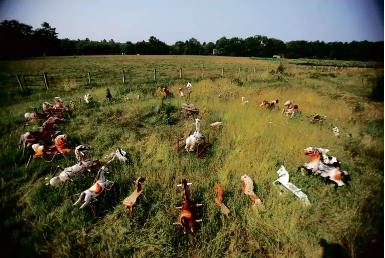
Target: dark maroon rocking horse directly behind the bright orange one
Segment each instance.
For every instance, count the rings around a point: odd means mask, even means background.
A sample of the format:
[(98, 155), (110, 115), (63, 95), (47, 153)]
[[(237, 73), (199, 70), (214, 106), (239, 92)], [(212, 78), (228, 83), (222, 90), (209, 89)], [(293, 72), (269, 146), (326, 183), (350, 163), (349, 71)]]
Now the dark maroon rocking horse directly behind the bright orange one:
[(40, 127), (39, 131), (28, 131), (20, 136), (19, 148), (23, 145), (23, 155), (26, 147), (30, 147), (32, 144), (41, 141), (41, 140), (51, 140), (52, 135), (57, 136), (61, 132), (54, 131), (53, 127), (55, 124), (61, 124), (64, 119), (60, 119), (57, 117), (50, 117), (45, 121)]

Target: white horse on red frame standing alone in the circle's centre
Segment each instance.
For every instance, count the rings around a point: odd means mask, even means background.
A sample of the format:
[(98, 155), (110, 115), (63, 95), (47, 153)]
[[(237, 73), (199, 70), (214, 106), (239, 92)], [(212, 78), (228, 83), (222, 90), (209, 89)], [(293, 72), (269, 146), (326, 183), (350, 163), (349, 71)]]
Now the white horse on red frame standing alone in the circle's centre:
[[(199, 144), (201, 140), (204, 140), (207, 138), (207, 141), (205, 142), (205, 145), (203, 149), (199, 151)], [(186, 141), (185, 144), (183, 144), (181, 147), (179, 147), (179, 142), (181, 141)], [(191, 131), (189, 133), (189, 136), (186, 139), (178, 139), (177, 143), (177, 153), (185, 147), (186, 152), (191, 152), (194, 148), (194, 146), (197, 146), (197, 151), (196, 151), (196, 157), (199, 159), (199, 157), (203, 154), (203, 152), (209, 147), (209, 141), (210, 141), (210, 136), (207, 135), (207, 137), (203, 136), (202, 133), (200, 132), (200, 120), (197, 118), (195, 119), (195, 131), (194, 134), (191, 134)]]

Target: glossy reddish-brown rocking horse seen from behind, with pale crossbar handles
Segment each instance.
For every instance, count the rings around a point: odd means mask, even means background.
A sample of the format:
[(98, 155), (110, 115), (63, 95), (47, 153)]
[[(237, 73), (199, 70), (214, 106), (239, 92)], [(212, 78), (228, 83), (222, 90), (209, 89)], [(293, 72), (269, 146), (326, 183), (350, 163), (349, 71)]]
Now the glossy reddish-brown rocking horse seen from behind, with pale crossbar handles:
[(192, 183), (187, 183), (186, 178), (181, 179), (181, 186), (183, 188), (183, 202), (182, 206), (176, 207), (176, 209), (181, 209), (179, 214), (179, 222), (173, 223), (173, 225), (181, 225), (183, 233), (186, 234), (187, 230), (190, 229), (191, 233), (196, 231), (196, 222), (202, 222), (202, 219), (195, 220), (196, 208), (202, 206), (202, 204), (196, 204), (195, 200), (190, 197), (190, 187)]

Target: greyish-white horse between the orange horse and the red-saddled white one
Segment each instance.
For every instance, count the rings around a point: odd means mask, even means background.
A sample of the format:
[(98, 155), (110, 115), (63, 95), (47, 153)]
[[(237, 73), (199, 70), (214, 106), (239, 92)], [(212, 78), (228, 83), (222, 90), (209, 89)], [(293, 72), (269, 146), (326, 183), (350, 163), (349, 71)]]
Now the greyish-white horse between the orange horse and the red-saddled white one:
[[(52, 178), (50, 179), (49, 183), (46, 185), (52, 185), (52, 186), (60, 186), (65, 185), (67, 181), (73, 182), (72, 177), (74, 177), (78, 173), (83, 173), (84, 171), (88, 170), (91, 172), (92, 168), (100, 165), (99, 160), (91, 160), (85, 153), (90, 150), (92, 146), (89, 145), (79, 145), (75, 148), (75, 156), (78, 160), (78, 163), (73, 165), (72, 167), (67, 168), (61, 168), (60, 166), (57, 166), (56, 170), (54, 171)], [(62, 172), (59, 174), (59, 176), (55, 177), (56, 172), (58, 169), (61, 169)], [(48, 179), (48, 178), (46, 178)]]

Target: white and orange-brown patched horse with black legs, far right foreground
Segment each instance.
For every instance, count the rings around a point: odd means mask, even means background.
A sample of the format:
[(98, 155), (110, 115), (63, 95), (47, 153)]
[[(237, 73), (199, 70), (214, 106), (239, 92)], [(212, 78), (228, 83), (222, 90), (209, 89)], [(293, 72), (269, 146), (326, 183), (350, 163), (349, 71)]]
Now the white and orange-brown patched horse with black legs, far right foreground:
[(310, 162), (305, 163), (304, 166), (299, 166), (298, 171), (302, 169), (306, 170), (309, 175), (320, 175), (326, 180), (330, 180), (335, 184), (335, 189), (339, 186), (344, 186), (345, 183), (342, 181), (342, 176), (345, 176), (347, 181), (351, 180), (350, 175), (346, 171), (340, 171), (337, 168), (325, 165), (321, 161), (321, 154), (316, 149), (304, 149), (304, 154), (310, 156)]

